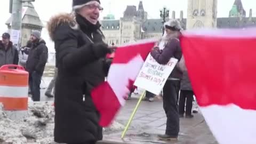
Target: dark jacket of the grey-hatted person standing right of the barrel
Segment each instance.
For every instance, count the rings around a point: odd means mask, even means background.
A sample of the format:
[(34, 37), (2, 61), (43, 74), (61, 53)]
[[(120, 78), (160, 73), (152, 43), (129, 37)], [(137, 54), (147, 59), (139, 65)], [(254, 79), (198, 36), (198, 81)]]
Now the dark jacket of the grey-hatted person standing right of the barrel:
[(33, 43), (31, 46), (26, 63), (26, 70), (29, 73), (36, 71), (38, 74), (43, 75), (48, 59), (48, 49), (45, 44), (43, 39), (39, 39), (37, 43)]

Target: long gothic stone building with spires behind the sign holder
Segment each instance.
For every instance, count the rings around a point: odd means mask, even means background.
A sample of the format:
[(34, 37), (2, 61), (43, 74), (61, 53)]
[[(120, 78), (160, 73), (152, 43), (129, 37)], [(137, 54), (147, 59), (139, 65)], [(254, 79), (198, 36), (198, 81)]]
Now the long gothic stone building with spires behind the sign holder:
[[(209, 9), (210, 7), (210, 9)], [(187, 19), (180, 12), (179, 19), (184, 29), (193, 28), (245, 28), (255, 26), (256, 18), (249, 17), (243, 9), (241, 0), (235, 0), (228, 18), (217, 18), (217, 0), (188, 0)], [(172, 12), (175, 19), (175, 12)], [(136, 6), (128, 5), (121, 19), (115, 20), (114, 15), (105, 17), (102, 31), (108, 44), (120, 45), (144, 38), (160, 38), (163, 31), (162, 19), (148, 19), (142, 2)]]

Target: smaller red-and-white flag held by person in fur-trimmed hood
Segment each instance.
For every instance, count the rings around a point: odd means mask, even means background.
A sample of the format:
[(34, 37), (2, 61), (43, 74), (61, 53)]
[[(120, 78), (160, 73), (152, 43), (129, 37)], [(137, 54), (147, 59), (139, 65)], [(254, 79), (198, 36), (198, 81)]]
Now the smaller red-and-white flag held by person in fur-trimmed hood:
[(141, 41), (118, 47), (111, 63), (107, 81), (95, 87), (91, 96), (100, 113), (101, 126), (111, 124), (118, 110), (124, 106), (127, 94), (156, 41)]

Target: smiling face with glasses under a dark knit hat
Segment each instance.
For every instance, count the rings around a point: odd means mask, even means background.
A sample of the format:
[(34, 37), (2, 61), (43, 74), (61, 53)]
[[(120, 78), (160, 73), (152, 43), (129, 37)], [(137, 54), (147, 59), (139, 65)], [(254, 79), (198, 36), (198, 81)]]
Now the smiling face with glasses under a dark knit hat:
[(82, 15), (86, 20), (91, 22), (93, 25), (95, 25), (98, 22), (98, 19), (100, 17), (100, 11), (102, 10), (103, 8), (97, 1), (91, 1), (88, 4), (84, 5), (78, 11), (78, 13)]

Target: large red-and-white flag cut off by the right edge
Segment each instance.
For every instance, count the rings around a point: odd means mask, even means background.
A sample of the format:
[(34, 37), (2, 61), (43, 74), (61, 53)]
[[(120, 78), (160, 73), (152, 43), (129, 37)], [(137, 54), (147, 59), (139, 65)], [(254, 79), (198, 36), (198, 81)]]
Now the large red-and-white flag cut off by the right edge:
[(220, 144), (256, 143), (256, 29), (185, 31), (188, 74)]

